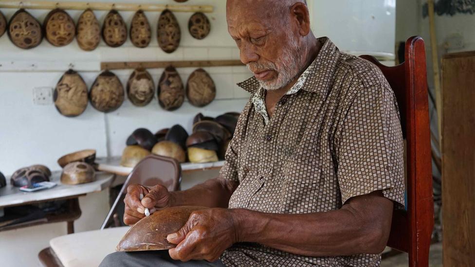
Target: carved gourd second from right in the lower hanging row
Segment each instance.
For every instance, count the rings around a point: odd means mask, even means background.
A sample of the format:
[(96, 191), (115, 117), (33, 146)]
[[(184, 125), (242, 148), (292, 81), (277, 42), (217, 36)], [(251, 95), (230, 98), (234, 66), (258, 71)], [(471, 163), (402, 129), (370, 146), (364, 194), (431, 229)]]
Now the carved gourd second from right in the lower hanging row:
[(175, 110), (183, 105), (185, 90), (178, 71), (168, 66), (160, 77), (158, 103), (165, 110)]

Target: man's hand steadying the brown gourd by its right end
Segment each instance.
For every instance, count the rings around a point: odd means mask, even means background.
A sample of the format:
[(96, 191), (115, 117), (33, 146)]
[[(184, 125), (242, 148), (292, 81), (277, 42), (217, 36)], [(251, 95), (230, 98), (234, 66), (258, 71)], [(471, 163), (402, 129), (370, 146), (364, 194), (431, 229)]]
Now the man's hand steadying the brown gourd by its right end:
[(186, 224), (166, 239), (177, 244), (170, 249), (174, 260), (206, 260), (214, 262), (223, 251), (237, 242), (237, 231), (232, 210), (208, 209), (195, 211)]

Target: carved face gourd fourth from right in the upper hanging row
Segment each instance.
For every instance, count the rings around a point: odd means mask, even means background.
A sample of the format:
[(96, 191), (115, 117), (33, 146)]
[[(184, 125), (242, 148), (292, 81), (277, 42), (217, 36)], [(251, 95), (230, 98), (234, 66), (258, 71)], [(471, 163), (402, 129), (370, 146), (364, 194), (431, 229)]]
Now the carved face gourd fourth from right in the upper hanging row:
[(127, 41), (127, 25), (117, 10), (107, 14), (102, 25), (102, 37), (110, 47), (119, 47)]

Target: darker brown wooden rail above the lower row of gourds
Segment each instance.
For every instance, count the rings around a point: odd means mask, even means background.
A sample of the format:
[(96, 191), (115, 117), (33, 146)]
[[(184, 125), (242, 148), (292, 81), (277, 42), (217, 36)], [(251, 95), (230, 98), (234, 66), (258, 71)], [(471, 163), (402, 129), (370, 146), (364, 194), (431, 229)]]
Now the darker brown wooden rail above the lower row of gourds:
[(145, 62), (101, 62), (101, 70), (161, 69), (168, 66), (175, 68), (204, 68), (222, 66), (244, 66), (240, 60), (201, 60), (201, 61), (145, 61)]

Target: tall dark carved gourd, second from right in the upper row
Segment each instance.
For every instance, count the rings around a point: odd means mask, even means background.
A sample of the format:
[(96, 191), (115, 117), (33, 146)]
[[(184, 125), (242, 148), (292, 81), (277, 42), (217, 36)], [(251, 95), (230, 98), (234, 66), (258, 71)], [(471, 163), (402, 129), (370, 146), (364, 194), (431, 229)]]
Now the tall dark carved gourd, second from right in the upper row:
[(166, 53), (173, 53), (180, 45), (182, 33), (175, 15), (165, 9), (158, 18), (158, 45)]

